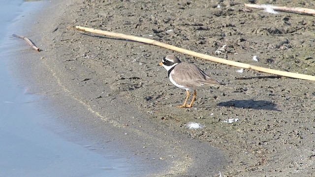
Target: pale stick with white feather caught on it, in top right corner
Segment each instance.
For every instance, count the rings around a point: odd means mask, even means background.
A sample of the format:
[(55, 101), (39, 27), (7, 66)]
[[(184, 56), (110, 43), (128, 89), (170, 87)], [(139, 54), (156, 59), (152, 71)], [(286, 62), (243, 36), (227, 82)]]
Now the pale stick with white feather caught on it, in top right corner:
[(306, 14), (306, 15), (315, 15), (315, 9), (310, 8), (302, 8), (302, 7), (280, 7), (269, 4), (244, 4), (245, 7), (255, 8), (255, 9), (265, 9), (266, 7), (272, 8), (276, 11), (290, 12), (290, 13), (298, 13), (298, 14)]

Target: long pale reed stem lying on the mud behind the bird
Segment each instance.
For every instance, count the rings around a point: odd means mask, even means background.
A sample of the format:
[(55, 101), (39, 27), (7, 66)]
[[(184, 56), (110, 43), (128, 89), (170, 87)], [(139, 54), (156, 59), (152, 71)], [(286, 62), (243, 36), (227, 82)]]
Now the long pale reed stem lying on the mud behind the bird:
[(159, 47), (170, 49), (170, 50), (173, 50), (173, 51), (176, 51), (176, 52), (187, 54), (187, 55), (190, 55), (190, 56), (193, 56), (193, 57), (206, 59), (206, 60), (210, 60), (210, 61), (214, 61), (214, 62), (218, 62), (218, 63), (222, 63), (222, 64), (227, 64), (227, 65), (230, 65), (230, 66), (236, 66), (236, 67), (246, 68), (246, 69), (253, 69), (253, 70), (256, 70), (256, 71), (260, 71), (260, 72), (276, 74), (276, 75), (290, 77), (290, 78), (315, 81), (315, 76), (310, 76), (310, 75), (305, 75), (305, 74), (298, 74), (298, 73), (291, 73), (291, 72), (286, 72), (286, 71), (279, 71), (279, 70), (275, 70), (275, 69), (269, 69), (269, 68), (264, 68), (264, 67), (260, 67), (260, 66), (254, 66), (254, 65), (251, 65), (251, 64), (241, 63), (241, 62), (237, 62), (237, 61), (231, 61), (231, 60), (227, 60), (227, 59), (221, 59), (221, 58), (217, 58), (217, 57), (212, 57), (212, 56), (209, 56), (209, 55), (205, 55), (205, 54), (189, 51), (187, 49), (182, 49), (182, 48), (179, 48), (179, 47), (176, 47), (176, 46), (172, 46), (172, 45), (169, 45), (169, 44), (165, 44), (165, 43), (158, 42), (156, 40), (148, 39), (148, 38), (144, 38), (144, 37), (137, 37), (137, 36), (126, 35), (126, 34), (122, 34), (122, 33), (115, 33), (115, 32), (103, 31), (103, 30), (99, 30), (99, 29), (85, 28), (85, 27), (80, 27), (80, 26), (76, 26), (75, 28), (77, 30), (86, 31), (86, 32), (92, 32), (92, 33), (95, 33), (95, 34), (107, 35), (107, 36), (112, 36), (112, 37), (116, 37), (116, 38), (120, 38), (120, 39), (128, 39), (128, 40), (142, 42), (142, 43), (146, 43), (146, 44), (152, 44), (152, 45), (156, 45), (156, 46), (159, 46)]

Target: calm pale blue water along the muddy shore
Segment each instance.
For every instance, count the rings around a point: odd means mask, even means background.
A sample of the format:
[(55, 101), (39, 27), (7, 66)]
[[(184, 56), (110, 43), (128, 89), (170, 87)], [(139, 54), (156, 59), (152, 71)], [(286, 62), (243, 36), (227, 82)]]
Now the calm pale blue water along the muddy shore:
[(0, 177), (129, 176), (130, 164), (125, 158), (95, 152), (50, 131), (58, 126), (60, 132), (71, 135), (37, 108), (41, 96), (26, 94), (27, 88), (9, 74), (7, 56), (12, 54), (4, 44), (21, 41), (12, 39), (13, 32), (8, 29), (19, 23), (23, 12), (40, 8), (42, 3), (0, 0)]

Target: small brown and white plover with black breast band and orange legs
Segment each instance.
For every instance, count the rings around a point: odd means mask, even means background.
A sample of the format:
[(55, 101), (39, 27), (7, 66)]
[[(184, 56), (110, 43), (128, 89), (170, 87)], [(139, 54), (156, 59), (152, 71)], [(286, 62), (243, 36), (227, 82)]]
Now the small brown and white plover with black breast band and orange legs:
[[(191, 108), (197, 95), (196, 89), (204, 89), (221, 84), (210, 78), (194, 64), (181, 62), (176, 56), (168, 55), (162, 59), (158, 65), (163, 66), (168, 71), (169, 80), (178, 88), (186, 89), (187, 97), (183, 105), (179, 108)], [(189, 92), (194, 91), (190, 104), (187, 104)]]

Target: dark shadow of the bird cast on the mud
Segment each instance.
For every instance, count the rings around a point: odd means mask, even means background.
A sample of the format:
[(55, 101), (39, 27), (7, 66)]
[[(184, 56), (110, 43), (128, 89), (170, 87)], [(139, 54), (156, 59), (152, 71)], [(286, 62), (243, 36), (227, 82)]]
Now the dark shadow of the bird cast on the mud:
[(217, 105), (223, 107), (281, 111), (277, 108), (277, 104), (265, 100), (230, 100), (218, 103)]

